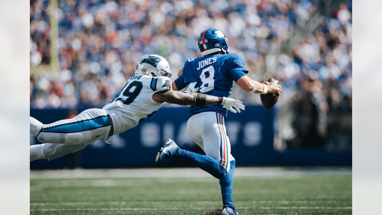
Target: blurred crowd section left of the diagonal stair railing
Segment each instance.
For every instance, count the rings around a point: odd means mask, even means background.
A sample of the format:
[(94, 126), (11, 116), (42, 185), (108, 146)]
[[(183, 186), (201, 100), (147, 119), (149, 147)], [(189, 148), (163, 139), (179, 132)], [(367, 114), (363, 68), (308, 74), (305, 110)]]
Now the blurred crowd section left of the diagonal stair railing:
[[(143, 54), (165, 57), (174, 73), (201, 56), (200, 32), (211, 26), (256, 73), (271, 43), (283, 41), (315, 1), (58, 1), (60, 78), (32, 77), (35, 108), (99, 106), (110, 102)], [(49, 1), (31, 2), (31, 66), (49, 63)], [(36, 30), (37, 29), (37, 30)], [(65, 82), (65, 83), (64, 83)], [(42, 86), (42, 88), (40, 87)], [(60, 101), (58, 101), (60, 100)], [(53, 104), (54, 103), (54, 104)]]

